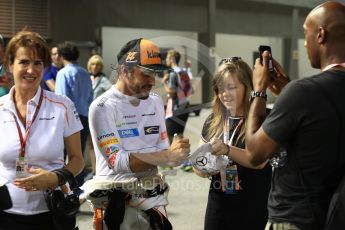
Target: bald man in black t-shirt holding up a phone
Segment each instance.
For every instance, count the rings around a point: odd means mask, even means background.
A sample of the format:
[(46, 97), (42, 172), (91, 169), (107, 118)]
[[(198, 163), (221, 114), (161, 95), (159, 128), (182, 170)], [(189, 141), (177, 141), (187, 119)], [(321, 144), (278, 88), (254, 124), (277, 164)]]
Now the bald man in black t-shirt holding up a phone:
[[(322, 72), (284, 88), (265, 121), (266, 89), (279, 94), (286, 75), (277, 62), (275, 73), (269, 72), (268, 51), (263, 63), (256, 60), (253, 73), (247, 160), (252, 166), (272, 157), (276, 161), (267, 230), (322, 229), (330, 197), (344, 175), (345, 6), (317, 6), (303, 28), (311, 66)], [(275, 156), (281, 148), (286, 155)]]

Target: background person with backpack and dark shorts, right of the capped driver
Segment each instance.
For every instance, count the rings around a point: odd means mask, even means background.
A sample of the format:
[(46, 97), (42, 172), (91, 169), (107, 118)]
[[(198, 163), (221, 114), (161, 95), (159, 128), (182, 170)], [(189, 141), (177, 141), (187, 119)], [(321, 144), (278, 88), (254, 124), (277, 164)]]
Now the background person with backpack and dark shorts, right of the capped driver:
[[(187, 109), (189, 105), (189, 98), (187, 95), (184, 95), (183, 99), (179, 97), (179, 95), (181, 95), (181, 91), (183, 91), (183, 89), (181, 89), (181, 77), (183, 77), (182, 74), (185, 74), (185, 76), (189, 78), (189, 74), (186, 71), (183, 71), (178, 65), (180, 59), (181, 54), (178, 51), (168, 51), (165, 61), (166, 65), (172, 70), (165, 74), (162, 79), (164, 89), (168, 94), (165, 123), (170, 143), (172, 143), (175, 134), (183, 136), (189, 116), (189, 111)], [(168, 115), (168, 113), (171, 114)], [(169, 168), (171, 167), (167, 167), (167, 169)], [(182, 164), (182, 170), (185, 172), (193, 171), (193, 167), (188, 160)]]

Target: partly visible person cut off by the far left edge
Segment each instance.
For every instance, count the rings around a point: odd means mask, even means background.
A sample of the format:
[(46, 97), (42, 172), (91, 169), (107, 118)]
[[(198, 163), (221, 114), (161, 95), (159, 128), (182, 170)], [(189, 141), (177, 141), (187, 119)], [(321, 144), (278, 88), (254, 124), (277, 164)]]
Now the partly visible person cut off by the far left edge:
[(5, 41), (0, 34), (0, 97), (8, 94), (11, 86), (13, 85), (13, 80), (10, 73), (5, 71), (3, 67), (5, 56)]

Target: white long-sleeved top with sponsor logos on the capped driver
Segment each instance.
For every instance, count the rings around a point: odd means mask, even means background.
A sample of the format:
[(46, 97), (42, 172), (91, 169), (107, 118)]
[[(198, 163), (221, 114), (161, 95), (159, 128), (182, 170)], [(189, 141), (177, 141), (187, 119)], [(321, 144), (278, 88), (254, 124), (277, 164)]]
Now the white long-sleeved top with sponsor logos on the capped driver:
[(169, 148), (164, 105), (158, 95), (150, 93), (146, 100), (138, 100), (112, 87), (92, 102), (89, 111), (96, 178), (120, 180), (157, 174), (157, 169), (132, 173), (129, 153)]

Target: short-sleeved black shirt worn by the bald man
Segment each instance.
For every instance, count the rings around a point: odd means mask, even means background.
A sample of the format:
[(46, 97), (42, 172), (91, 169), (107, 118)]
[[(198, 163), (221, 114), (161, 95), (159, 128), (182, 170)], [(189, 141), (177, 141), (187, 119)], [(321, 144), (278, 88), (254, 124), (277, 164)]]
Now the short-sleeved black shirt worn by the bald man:
[[(288, 221), (302, 229), (315, 229), (313, 224), (323, 224), (330, 196), (339, 180), (337, 170), (344, 167), (344, 161), (337, 157), (340, 134), (335, 110), (312, 81), (321, 84), (336, 102), (344, 130), (345, 73), (340, 71), (326, 71), (291, 82), (262, 126), (287, 149), (286, 165), (273, 172), (269, 218)], [(344, 155), (344, 146), (340, 151)]]

